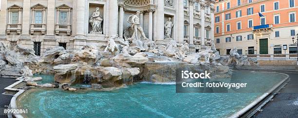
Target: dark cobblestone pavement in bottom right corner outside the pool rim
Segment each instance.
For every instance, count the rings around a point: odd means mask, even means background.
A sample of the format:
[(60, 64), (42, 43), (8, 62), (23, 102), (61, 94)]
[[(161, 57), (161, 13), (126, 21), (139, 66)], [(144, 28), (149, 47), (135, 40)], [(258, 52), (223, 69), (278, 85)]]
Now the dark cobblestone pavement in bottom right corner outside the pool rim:
[(288, 85), (253, 118), (298, 118), (298, 72), (278, 71), (278, 73), (290, 75)]

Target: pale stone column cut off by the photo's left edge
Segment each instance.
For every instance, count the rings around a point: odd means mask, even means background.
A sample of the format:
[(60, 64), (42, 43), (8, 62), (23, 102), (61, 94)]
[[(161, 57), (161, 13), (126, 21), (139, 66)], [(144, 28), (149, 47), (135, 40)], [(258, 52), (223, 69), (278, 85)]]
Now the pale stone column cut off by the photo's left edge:
[[(1, 0), (0, 5), (2, 8), (0, 12), (0, 24), (3, 26), (3, 27), (0, 27), (0, 40), (6, 40), (7, 0)], [(8, 19), (10, 18), (8, 17)]]

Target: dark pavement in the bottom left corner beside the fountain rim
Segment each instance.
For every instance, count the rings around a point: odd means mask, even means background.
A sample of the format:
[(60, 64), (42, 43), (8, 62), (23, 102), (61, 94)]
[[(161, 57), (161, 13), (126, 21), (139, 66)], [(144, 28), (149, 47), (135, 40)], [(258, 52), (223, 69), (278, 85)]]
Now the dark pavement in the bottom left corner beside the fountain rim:
[(16, 79), (12, 78), (0, 78), (0, 118), (7, 118), (7, 116), (3, 116), (2, 109), (4, 105), (9, 105), (10, 99), (13, 97), (11, 95), (3, 95), (2, 93), (5, 91), (4, 88), (8, 87), (9, 85), (17, 82)]

